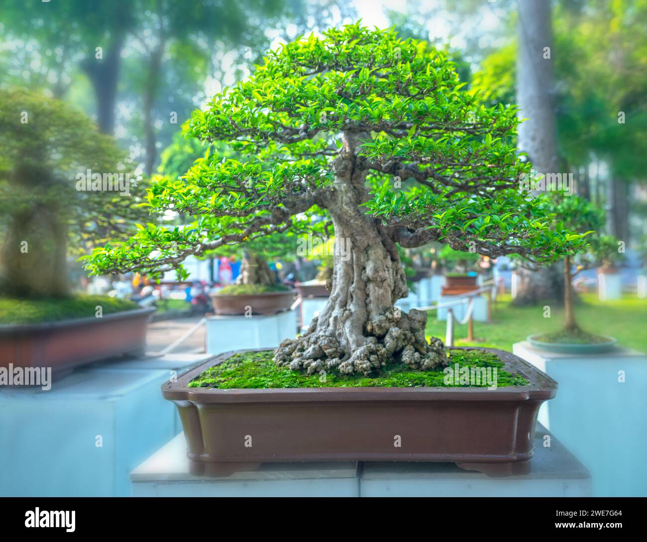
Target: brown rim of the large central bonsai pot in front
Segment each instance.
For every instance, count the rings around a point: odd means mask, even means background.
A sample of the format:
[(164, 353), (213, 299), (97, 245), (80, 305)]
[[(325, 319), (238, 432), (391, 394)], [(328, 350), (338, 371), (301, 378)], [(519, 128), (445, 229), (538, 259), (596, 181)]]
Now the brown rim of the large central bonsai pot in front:
[[(262, 349), (241, 349), (218, 354), (177, 378), (162, 384), (162, 395), (173, 401), (194, 403), (250, 402), (348, 402), (348, 401), (525, 401), (546, 400), (557, 393), (557, 382), (515, 354), (494, 348), (452, 347), (455, 350), (480, 350), (497, 354), (505, 363), (503, 369), (521, 373), (529, 385), (506, 386), (490, 391), (487, 387), (299, 387), (299, 388), (237, 388), (211, 389), (186, 387), (193, 378), (239, 352), (263, 352)], [(450, 365), (451, 366), (451, 365)]]

